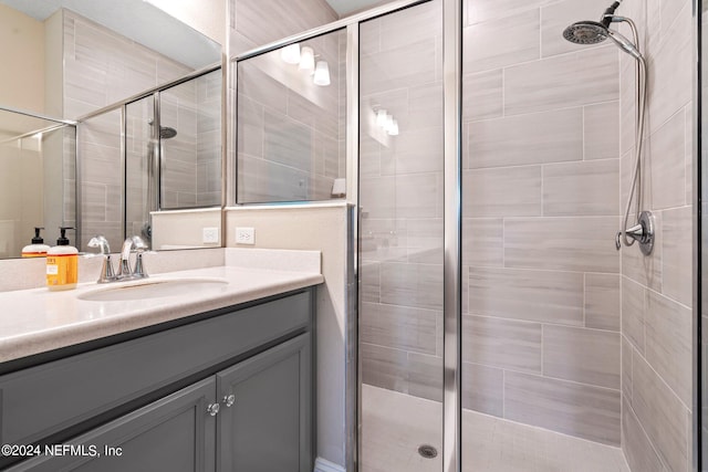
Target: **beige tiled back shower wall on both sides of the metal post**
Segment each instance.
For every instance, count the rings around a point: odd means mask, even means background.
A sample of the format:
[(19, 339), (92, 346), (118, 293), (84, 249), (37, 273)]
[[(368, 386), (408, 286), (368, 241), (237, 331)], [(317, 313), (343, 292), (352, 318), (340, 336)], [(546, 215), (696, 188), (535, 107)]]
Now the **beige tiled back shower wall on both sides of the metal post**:
[[(462, 406), (620, 445), (620, 52), (561, 36), (604, 8), (466, 2)], [(434, 30), (416, 9), (362, 27), (361, 355), (364, 381), (441, 400), (439, 38), (396, 35)], [(376, 105), (402, 114), (388, 143)]]

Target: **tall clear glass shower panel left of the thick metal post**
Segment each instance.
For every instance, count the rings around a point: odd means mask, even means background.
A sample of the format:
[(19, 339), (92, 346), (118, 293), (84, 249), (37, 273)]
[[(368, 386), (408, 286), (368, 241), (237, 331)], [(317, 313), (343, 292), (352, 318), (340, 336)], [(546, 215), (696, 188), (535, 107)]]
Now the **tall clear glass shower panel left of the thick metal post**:
[(360, 25), (365, 472), (442, 469), (441, 35), (438, 0)]

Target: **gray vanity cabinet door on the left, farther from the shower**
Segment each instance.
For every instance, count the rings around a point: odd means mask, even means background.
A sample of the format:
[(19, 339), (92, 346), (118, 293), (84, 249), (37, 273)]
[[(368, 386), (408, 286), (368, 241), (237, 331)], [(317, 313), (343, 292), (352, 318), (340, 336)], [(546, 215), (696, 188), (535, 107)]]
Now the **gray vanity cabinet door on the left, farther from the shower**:
[(215, 401), (210, 377), (82, 434), (70, 442), (79, 448), (66, 455), (38, 457), (10, 471), (212, 472), (216, 417), (207, 408)]

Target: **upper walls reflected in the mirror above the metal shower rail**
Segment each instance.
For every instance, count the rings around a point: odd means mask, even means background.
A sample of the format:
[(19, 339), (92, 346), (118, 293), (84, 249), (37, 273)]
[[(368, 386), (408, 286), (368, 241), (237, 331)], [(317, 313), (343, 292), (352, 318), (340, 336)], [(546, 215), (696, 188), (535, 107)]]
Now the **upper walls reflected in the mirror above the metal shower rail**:
[[(1, 102), (64, 118), (221, 59), (217, 42), (144, 0), (0, 0), (0, 25), (14, 32), (2, 36), (4, 65), (22, 77), (8, 83), (12, 92), (0, 92)], [(13, 103), (18, 94), (44, 103)]]

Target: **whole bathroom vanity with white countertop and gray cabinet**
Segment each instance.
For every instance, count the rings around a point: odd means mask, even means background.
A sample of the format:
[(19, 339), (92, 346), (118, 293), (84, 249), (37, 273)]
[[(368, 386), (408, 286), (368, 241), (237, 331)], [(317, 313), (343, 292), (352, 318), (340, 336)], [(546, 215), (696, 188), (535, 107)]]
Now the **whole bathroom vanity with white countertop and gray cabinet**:
[(0, 469), (312, 470), (319, 269), (147, 281), (0, 294)]

